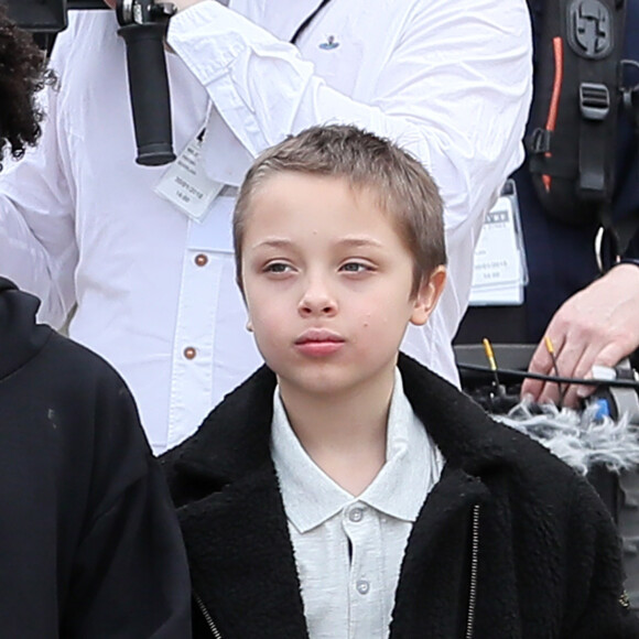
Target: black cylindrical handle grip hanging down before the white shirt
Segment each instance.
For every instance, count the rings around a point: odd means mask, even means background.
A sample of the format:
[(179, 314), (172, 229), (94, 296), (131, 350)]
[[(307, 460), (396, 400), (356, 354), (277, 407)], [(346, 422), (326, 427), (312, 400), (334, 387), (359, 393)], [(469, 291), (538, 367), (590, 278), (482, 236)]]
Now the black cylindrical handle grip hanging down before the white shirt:
[(154, 0), (118, 0), (116, 12), (127, 44), (127, 68), (138, 156), (144, 166), (175, 160), (164, 37), (175, 7)]

